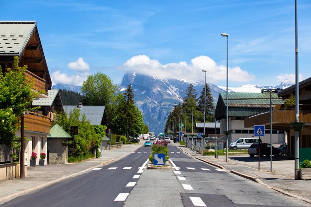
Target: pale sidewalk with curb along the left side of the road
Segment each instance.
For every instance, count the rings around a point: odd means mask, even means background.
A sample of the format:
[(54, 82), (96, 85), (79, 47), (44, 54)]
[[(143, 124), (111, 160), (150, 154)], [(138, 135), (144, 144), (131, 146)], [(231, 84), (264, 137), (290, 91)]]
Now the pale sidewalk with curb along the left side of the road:
[(94, 167), (120, 159), (142, 144), (143, 141), (140, 141), (138, 144), (124, 144), (119, 149), (103, 150), (100, 158), (93, 158), (75, 164), (28, 167), (26, 178), (0, 181), (0, 205), (32, 191), (90, 171)]

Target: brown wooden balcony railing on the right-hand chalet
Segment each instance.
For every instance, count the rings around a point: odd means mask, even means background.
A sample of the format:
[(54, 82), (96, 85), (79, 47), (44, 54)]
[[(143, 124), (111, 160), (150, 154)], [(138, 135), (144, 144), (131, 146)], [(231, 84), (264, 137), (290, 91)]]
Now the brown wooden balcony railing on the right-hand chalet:
[[(286, 109), (274, 110), (272, 114), (272, 120), (273, 123), (295, 122), (296, 121), (295, 110), (286, 110)], [(310, 110), (299, 111), (299, 121), (311, 122), (311, 111)], [(266, 123), (270, 123), (269, 112), (246, 118), (244, 120), (244, 127), (252, 127), (253, 125), (264, 125)]]

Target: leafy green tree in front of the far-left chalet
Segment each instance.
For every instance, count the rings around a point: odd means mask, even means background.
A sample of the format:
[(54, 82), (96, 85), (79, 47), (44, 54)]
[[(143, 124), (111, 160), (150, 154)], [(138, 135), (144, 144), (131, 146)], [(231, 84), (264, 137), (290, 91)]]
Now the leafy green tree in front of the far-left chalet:
[[(39, 92), (32, 90), (33, 81), (24, 76), (27, 66), (18, 67), (19, 59), (14, 57), (14, 67), (0, 68), (0, 144), (14, 146), (19, 116), (29, 108)], [(41, 91), (40, 91), (41, 92)]]

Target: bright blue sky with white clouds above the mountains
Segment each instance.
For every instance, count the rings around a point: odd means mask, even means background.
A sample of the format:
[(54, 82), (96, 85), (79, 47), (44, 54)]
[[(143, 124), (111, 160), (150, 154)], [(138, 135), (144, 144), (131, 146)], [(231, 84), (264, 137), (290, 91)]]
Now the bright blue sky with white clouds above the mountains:
[[(0, 20), (37, 22), (52, 78), (127, 71), (226, 86), (295, 83), (295, 0), (0, 0)], [(3, 9), (5, 8), (5, 9)], [(298, 0), (300, 81), (311, 76), (311, 1)]]

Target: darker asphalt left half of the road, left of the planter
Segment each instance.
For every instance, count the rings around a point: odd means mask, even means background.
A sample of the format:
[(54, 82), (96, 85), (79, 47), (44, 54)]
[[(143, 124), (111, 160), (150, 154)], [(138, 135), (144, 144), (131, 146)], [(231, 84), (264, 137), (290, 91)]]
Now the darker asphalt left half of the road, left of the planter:
[(16, 198), (1, 207), (120, 207), (143, 173), (151, 147), (91, 172)]

